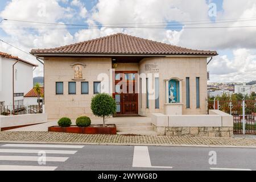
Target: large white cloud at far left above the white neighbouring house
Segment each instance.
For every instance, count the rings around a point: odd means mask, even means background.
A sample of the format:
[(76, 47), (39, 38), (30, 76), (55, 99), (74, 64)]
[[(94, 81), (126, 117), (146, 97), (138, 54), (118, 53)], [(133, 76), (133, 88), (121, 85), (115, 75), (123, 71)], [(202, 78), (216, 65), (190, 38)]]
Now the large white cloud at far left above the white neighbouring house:
[[(60, 19), (72, 18), (74, 11), (70, 8), (66, 9), (59, 6), (58, 1), (59, 0), (13, 0), (7, 3), (5, 9), (0, 12), (0, 17), (50, 23), (59, 22)], [(42, 24), (39, 26), (39, 29), (35, 28), (31, 31), (22, 28), (24, 24), (26, 24), (27, 28), (35, 27), (35, 24), (30, 24), (30, 26), (28, 26), (29, 23), (3, 21), (1, 26), (4, 27), (3, 31), (5, 31), (7, 36), (2, 37), (1, 39), (26, 52), (30, 52), (32, 48), (56, 47), (73, 42), (73, 36), (65, 29), (65, 26), (58, 26), (61, 30), (49, 30), (46, 25)], [(38, 25), (36, 27), (38, 27)], [(19, 56), (31, 63), (38, 64), (39, 67), (35, 69), (34, 75), (43, 75), (42, 64), (40, 64), (35, 57), (27, 55), (4, 43), (0, 44), (0, 50)]]

